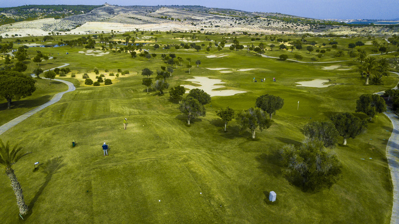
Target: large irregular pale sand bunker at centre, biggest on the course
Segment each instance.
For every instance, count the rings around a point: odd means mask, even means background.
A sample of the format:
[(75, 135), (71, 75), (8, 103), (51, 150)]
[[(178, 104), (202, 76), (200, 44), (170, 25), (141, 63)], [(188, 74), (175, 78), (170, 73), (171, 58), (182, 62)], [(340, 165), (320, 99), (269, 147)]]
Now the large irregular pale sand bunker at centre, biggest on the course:
[[(204, 90), (207, 94), (210, 96), (233, 96), (234, 94), (237, 93), (243, 93), (246, 91), (240, 91), (240, 90), (216, 90), (213, 91), (215, 88), (223, 88), (225, 86), (221, 85), (215, 85), (215, 84), (223, 84), (220, 79), (209, 79), (208, 77), (199, 77), (199, 76), (194, 76), (194, 79), (187, 79), (185, 81), (189, 81), (195, 84), (199, 84), (201, 86), (192, 86), (192, 85), (182, 85), (185, 88), (189, 88), (192, 90), (193, 88), (199, 88)], [(186, 90), (186, 93), (188, 93), (189, 90)]]

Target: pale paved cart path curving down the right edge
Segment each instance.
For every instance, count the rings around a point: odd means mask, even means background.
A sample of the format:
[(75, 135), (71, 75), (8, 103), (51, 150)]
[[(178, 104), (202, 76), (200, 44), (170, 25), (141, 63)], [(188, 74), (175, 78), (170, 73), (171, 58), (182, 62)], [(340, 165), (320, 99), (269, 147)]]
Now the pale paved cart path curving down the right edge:
[[(396, 72), (391, 73), (399, 75), (399, 73)], [(397, 88), (398, 87), (395, 86), (394, 89)], [(377, 92), (376, 94), (382, 95), (383, 93), (384, 92)], [(391, 170), (393, 185), (391, 224), (397, 224), (399, 223), (399, 117), (389, 109), (385, 111), (384, 114), (389, 118), (389, 120), (391, 120), (393, 126), (391, 137), (389, 137), (387, 143), (386, 155), (389, 170)]]

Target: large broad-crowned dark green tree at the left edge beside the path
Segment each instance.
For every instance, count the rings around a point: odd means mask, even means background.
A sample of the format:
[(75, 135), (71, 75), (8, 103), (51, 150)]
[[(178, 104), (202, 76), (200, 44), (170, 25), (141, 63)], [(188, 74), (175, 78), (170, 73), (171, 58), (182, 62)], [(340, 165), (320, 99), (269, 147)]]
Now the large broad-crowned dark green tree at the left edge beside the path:
[(32, 77), (16, 71), (0, 71), (0, 98), (7, 100), (10, 109), (11, 100), (19, 100), (32, 95), (36, 90)]

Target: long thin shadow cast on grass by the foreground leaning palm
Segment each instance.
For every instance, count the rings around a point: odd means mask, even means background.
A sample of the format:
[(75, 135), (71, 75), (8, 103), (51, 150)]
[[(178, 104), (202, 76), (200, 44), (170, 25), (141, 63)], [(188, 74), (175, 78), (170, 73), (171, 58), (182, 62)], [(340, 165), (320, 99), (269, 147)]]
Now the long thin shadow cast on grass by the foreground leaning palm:
[(32, 214), (32, 208), (34, 207), (36, 201), (39, 199), (41, 193), (43, 193), (44, 189), (47, 187), (48, 183), (53, 177), (53, 174), (57, 173), (57, 171), (59, 171), (59, 169), (61, 169), (65, 165), (62, 163), (62, 161), (63, 161), (62, 157), (60, 158), (55, 157), (41, 166), (41, 169), (43, 169), (41, 172), (46, 174), (45, 181), (38, 189), (38, 192), (36, 192), (34, 198), (32, 198), (32, 200), (28, 204), (29, 211), (28, 214), (26, 215), (26, 218), (29, 218), (29, 216)]

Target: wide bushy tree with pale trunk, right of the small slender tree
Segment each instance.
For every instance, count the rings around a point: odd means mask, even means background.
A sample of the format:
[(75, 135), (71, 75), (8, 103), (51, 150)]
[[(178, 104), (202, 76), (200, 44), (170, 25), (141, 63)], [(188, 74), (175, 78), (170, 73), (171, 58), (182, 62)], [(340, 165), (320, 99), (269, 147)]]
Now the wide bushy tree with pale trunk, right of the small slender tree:
[(260, 108), (249, 108), (248, 110), (243, 110), (237, 114), (235, 118), (240, 127), (240, 133), (243, 133), (245, 130), (249, 129), (251, 131), (251, 138), (255, 138), (255, 130), (259, 129), (262, 131), (263, 129), (270, 128), (272, 120), (267, 118), (265, 112), (263, 112)]

